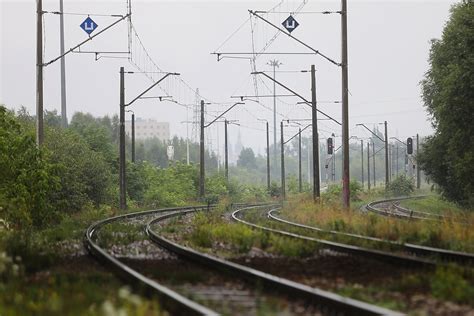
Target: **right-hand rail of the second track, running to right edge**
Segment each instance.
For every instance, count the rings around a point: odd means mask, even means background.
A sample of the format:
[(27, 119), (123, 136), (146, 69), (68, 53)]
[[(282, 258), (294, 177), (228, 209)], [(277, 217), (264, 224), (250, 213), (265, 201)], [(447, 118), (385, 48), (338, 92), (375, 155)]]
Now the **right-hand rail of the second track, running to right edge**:
[(401, 247), (402, 250), (407, 251), (409, 253), (415, 254), (415, 255), (421, 255), (421, 256), (429, 256), (429, 257), (437, 257), (443, 261), (455, 261), (455, 262), (460, 262), (460, 263), (474, 263), (474, 254), (468, 253), (468, 252), (461, 252), (461, 251), (453, 251), (453, 250), (448, 250), (448, 249), (442, 249), (442, 248), (435, 248), (435, 247), (427, 247), (427, 246), (420, 246), (416, 244), (411, 244), (411, 243), (401, 243), (397, 241), (392, 241), (392, 240), (387, 240), (387, 239), (382, 239), (382, 238), (377, 238), (377, 237), (370, 237), (370, 236), (364, 236), (364, 235), (359, 235), (359, 234), (351, 234), (351, 233), (344, 233), (340, 231), (335, 231), (335, 230), (326, 230), (322, 229), (319, 227), (315, 226), (309, 226), (305, 224), (300, 224), (300, 223), (295, 223), (291, 222), (289, 220), (282, 219), (274, 213), (276, 213), (278, 210), (273, 209), (270, 210), (267, 215), (270, 219), (273, 219), (275, 221), (292, 225), (295, 227), (300, 227), (308, 230), (313, 230), (317, 231), (319, 233), (327, 233), (327, 234), (333, 234), (333, 235), (340, 235), (340, 236), (347, 236), (355, 239), (361, 239), (361, 240), (367, 240), (375, 243), (383, 243), (383, 244), (389, 244), (393, 246), (398, 246)]

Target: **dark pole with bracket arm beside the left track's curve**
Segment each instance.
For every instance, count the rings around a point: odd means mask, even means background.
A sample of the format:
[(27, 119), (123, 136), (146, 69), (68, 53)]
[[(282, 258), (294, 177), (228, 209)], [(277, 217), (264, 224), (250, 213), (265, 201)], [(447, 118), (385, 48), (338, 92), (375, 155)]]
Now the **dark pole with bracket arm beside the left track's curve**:
[(125, 172), (125, 74), (120, 67), (120, 124), (119, 124), (119, 177), (120, 177), (120, 209), (127, 209), (127, 185)]

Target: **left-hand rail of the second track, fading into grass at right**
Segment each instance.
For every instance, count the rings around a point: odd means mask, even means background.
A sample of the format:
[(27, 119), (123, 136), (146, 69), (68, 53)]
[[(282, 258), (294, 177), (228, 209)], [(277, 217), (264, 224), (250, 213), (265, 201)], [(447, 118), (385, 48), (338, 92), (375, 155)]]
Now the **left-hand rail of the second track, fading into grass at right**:
[[(249, 209), (249, 208), (245, 208)], [(391, 264), (400, 264), (404, 266), (415, 266), (415, 267), (423, 267), (423, 268), (429, 268), (432, 269), (436, 266), (436, 263), (423, 259), (423, 258), (416, 258), (413, 256), (406, 256), (406, 255), (401, 255), (401, 254), (393, 254), (390, 252), (385, 252), (385, 251), (380, 251), (380, 250), (374, 250), (374, 249), (367, 249), (367, 248), (362, 248), (362, 247), (357, 247), (353, 245), (348, 245), (348, 244), (343, 244), (343, 243), (337, 243), (333, 241), (328, 241), (324, 239), (318, 239), (318, 238), (313, 238), (313, 237), (308, 237), (308, 236), (302, 236), (299, 234), (291, 233), (288, 231), (284, 230), (279, 230), (279, 229), (274, 229), (270, 227), (265, 227), (261, 226), (258, 224), (250, 223), (247, 222), (243, 219), (240, 219), (237, 217), (237, 214), (241, 212), (242, 210), (245, 209), (240, 209), (236, 210), (232, 213), (232, 218), (242, 224), (245, 224), (247, 226), (257, 228), (260, 230), (265, 230), (268, 232), (273, 232), (279, 235), (291, 237), (291, 238), (297, 238), (297, 239), (302, 239), (302, 240), (307, 240), (311, 242), (316, 242), (326, 248), (329, 248), (331, 250), (340, 252), (340, 253), (348, 253), (348, 254), (354, 254), (358, 256), (362, 256), (365, 258), (371, 258), (371, 259), (378, 259), (384, 262), (388, 262)]]

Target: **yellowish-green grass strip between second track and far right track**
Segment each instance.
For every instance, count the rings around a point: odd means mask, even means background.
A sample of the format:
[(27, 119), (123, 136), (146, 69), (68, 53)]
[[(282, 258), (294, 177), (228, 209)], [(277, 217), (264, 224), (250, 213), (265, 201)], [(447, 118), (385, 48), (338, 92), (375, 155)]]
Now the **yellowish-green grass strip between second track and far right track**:
[(474, 230), (470, 229), (474, 225), (474, 214), (467, 212), (463, 212), (462, 217), (458, 213), (457, 217), (440, 222), (404, 221), (361, 213), (357, 209), (344, 210), (324, 201), (314, 204), (310, 198), (306, 198), (290, 199), (283, 208), (281, 217), (326, 230), (474, 252)]

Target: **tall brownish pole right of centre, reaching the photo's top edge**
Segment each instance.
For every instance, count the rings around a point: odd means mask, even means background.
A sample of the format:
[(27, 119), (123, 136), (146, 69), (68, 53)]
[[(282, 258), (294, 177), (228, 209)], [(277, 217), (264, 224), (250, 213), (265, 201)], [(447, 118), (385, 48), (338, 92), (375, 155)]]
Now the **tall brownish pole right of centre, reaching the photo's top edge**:
[(342, 201), (345, 208), (350, 207), (349, 189), (349, 86), (347, 60), (347, 0), (341, 0), (341, 35), (342, 35)]

